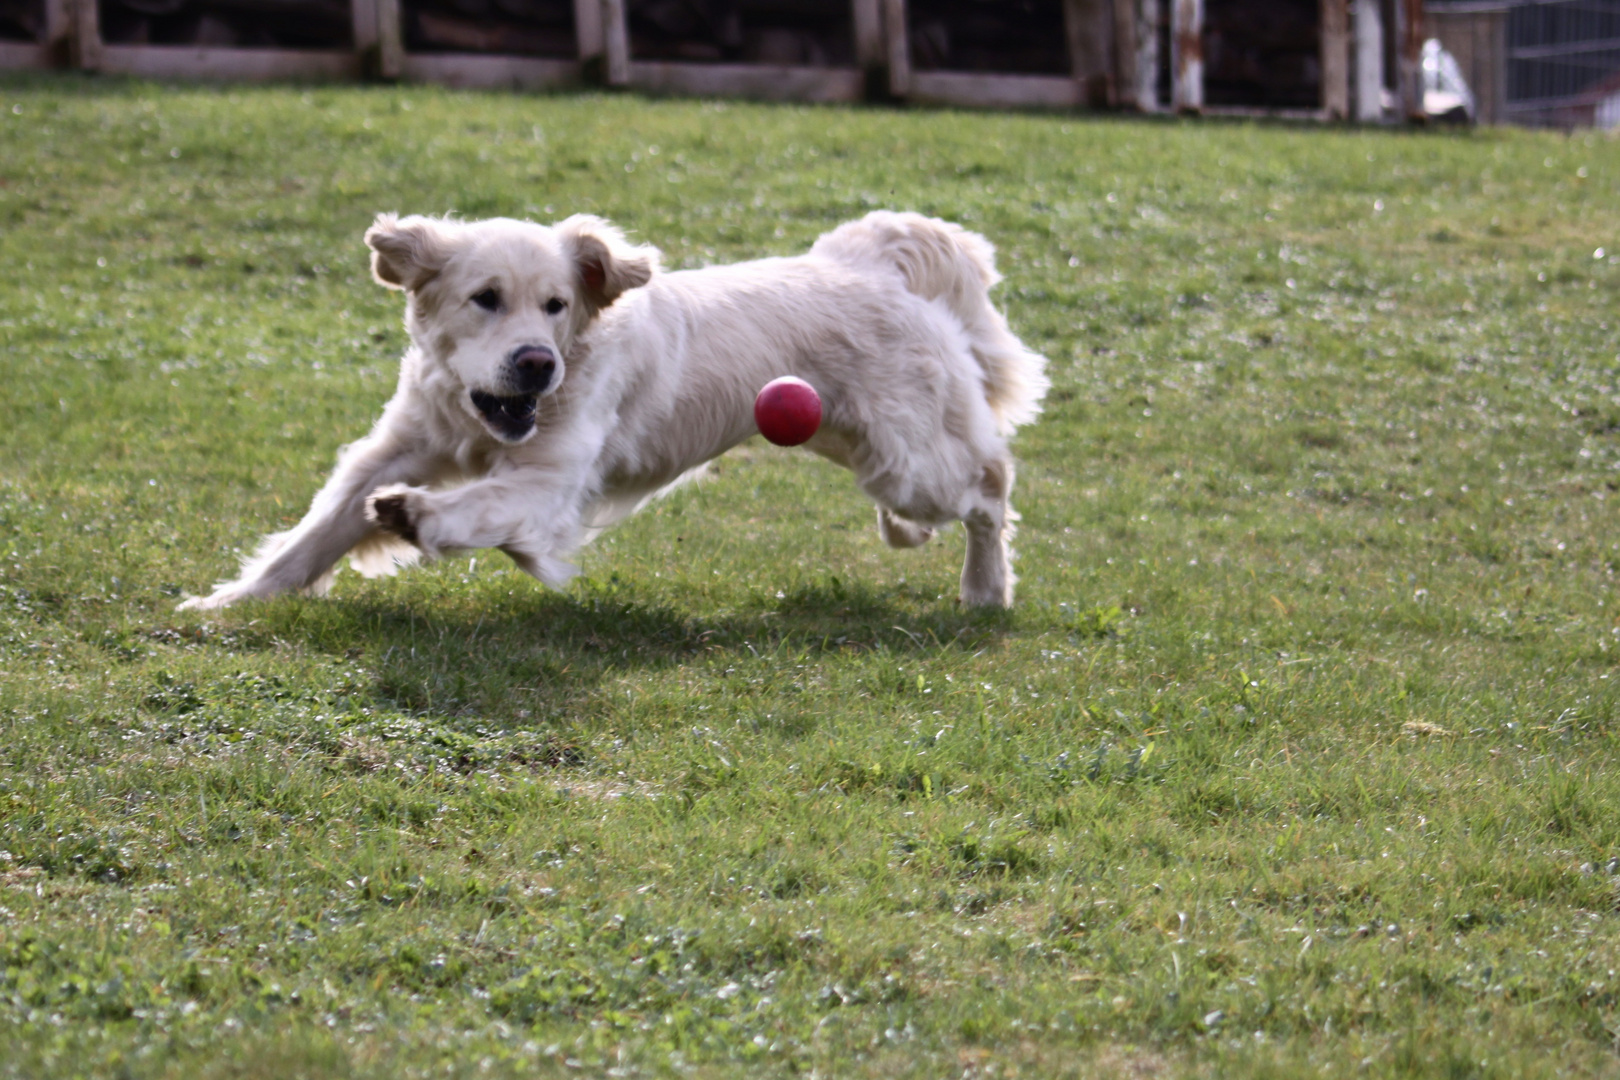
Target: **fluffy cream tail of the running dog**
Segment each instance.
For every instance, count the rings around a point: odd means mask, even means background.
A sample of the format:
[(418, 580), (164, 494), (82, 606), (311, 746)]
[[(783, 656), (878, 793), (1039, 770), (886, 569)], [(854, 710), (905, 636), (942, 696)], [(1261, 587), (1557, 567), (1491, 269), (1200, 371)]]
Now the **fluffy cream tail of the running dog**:
[(893, 267), (909, 291), (943, 301), (967, 330), (1001, 434), (1011, 436), (1040, 413), (1051, 385), (1047, 358), (1024, 348), (990, 303), (990, 287), (1001, 275), (988, 240), (936, 217), (875, 210), (839, 225), (810, 251), (839, 262)]

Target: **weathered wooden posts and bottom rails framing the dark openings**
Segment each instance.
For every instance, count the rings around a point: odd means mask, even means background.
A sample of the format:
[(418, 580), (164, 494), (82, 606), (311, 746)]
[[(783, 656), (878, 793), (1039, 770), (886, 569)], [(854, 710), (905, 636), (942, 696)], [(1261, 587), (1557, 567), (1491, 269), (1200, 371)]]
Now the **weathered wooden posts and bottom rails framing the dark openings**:
[[(78, 42), (75, 63), (92, 70), (117, 71), (149, 78), (217, 78), (217, 79), (347, 79), (364, 73), (392, 78), (481, 87), (559, 87), (578, 84), (585, 66), (572, 58), (536, 58), (525, 55), (478, 53), (407, 53), (402, 26), (402, 0), (352, 0), (353, 52), (186, 47), (186, 45), (105, 45), (96, 31), (97, 0), (45, 0), (47, 13), (60, 11), (66, 26), (65, 39)], [(603, 57), (620, 86), (666, 94), (753, 97), (768, 100), (844, 102), (870, 92), (868, 74), (888, 68), (891, 87), (917, 102), (998, 107), (1072, 108), (1105, 102), (1153, 110), (1158, 74), (1158, 19), (1163, 0), (1063, 0), (1063, 29), (1071, 78), (1059, 74), (1013, 74), (974, 71), (915, 71), (910, 66), (906, 0), (847, 0), (855, 29), (855, 58), (860, 68), (823, 68), (770, 63), (687, 63), (635, 62), (629, 55), (627, 0), (573, 0), (580, 55)], [(1275, 108), (1207, 108), (1199, 60), (1199, 29), (1204, 0), (1170, 0), (1174, 15), (1176, 52), (1173, 55), (1174, 99), (1181, 110), (1217, 115), (1288, 115), (1343, 117), (1349, 112), (1348, 57), (1346, 70), (1335, 71), (1333, 52), (1349, 49), (1348, 3), (1351, 0), (1319, 0), (1324, 15), (1324, 107), (1315, 110)], [(1367, 47), (1366, 21), (1377, 19), (1375, 3), (1362, 0), (1358, 8), (1358, 58), (1377, 60), (1380, 52)], [(1409, 8), (1403, 5), (1403, 19)], [(595, 16), (595, 21), (593, 21)], [(78, 32), (84, 26), (91, 32)], [(846, 24), (847, 26), (847, 24)], [(1408, 37), (1408, 23), (1398, 26)], [(1050, 40), (1050, 39), (1047, 39)], [(617, 44), (616, 44), (617, 42)], [(1406, 40), (1401, 40), (1403, 49)], [(598, 52), (591, 52), (598, 49)], [(369, 58), (368, 58), (369, 50)], [(392, 55), (390, 55), (392, 53)], [(617, 53), (617, 58), (614, 55)], [(1406, 55), (1405, 52), (1401, 53)], [(844, 53), (849, 62), (849, 53)], [(44, 45), (0, 45), (0, 68), (39, 68), (50, 63)], [(872, 66), (865, 66), (865, 65)], [(1047, 63), (1045, 66), (1051, 66)], [(1377, 89), (1379, 73), (1358, 68), (1362, 94), (1356, 115), (1366, 115), (1366, 89)], [(1335, 89), (1338, 86), (1338, 89)], [(1421, 91), (1421, 86), (1418, 86)], [(1419, 107), (1421, 107), (1421, 97)]]

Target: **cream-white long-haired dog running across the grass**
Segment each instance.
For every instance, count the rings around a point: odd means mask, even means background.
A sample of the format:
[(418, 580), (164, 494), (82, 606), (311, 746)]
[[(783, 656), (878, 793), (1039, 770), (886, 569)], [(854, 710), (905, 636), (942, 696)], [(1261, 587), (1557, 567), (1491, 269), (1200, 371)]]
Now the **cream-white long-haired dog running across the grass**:
[(1013, 602), (1006, 437), (1040, 411), (1045, 359), (990, 304), (993, 248), (917, 214), (868, 214), (810, 254), (661, 272), (596, 217), (377, 217), (376, 279), (405, 290), (411, 347), (371, 434), (293, 529), (181, 607), (324, 593), (450, 549), (499, 547), (546, 585), (682, 474), (755, 434), (792, 374), (894, 547), (967, 529), (964, 604)]

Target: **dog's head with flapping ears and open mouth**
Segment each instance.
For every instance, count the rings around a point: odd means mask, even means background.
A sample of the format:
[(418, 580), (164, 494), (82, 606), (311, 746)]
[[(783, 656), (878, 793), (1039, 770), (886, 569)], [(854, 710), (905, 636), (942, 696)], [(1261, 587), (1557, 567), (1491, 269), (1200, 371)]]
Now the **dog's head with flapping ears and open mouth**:
[(379, 214), (366, 230), (371, 272), (410, 296), (410, 330), (460, 384), (462, 408), (502, 442), (535, 432), (564, 358), (591, 319), (646, 285), (658, 251), (599, 217), (557, 225)]

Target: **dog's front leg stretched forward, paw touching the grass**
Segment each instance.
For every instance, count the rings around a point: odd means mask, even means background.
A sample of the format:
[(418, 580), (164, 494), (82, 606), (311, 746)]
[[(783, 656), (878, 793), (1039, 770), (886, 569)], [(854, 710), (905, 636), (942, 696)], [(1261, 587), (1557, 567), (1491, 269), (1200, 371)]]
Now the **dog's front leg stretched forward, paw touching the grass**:
[(436, 465), (421, 447), (389, 431), (373, 432), (343, 450), (303, 520), (287, 533), (266, 538), (240, 578), (180, 607), (206, 610), (295, 589), (321, 591), (337, 560), (376, 534), (376, 526), (366, 520), (366, 495), (384, 484), (421, 483)]

